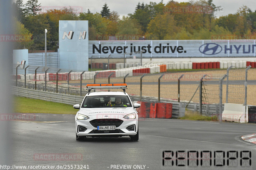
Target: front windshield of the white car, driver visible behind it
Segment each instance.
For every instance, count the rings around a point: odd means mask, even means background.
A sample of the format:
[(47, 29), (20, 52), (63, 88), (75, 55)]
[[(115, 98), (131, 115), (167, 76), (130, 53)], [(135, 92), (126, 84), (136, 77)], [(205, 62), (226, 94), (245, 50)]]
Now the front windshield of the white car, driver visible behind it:
[(92, 107), (132, 107), (128, 96), (122, 95), (98, 95), (87, 96), (82, 105), (83, 108)]

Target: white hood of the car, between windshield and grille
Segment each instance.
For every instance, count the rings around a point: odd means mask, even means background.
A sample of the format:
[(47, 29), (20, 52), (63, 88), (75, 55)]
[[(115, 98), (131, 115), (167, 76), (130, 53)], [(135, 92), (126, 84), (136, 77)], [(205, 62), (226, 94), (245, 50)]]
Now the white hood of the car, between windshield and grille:
[(128, 115), (134, 113), (133, 107), (100, 107), (100, 108), (80, 108), (79, 114), (92, 116), (92, 115)]

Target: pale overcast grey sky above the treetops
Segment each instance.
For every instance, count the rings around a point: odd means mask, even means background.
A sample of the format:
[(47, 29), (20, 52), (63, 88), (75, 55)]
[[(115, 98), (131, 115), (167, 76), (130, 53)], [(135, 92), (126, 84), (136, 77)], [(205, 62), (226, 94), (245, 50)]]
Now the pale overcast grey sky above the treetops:
[[(91, 12), (101, 11), (105, 3), (108, 4), (110, 11), (116, 11), (120, 16), (127, 15), (128, 13), (133, 13), (137, 4), (144, 3), (149, 4), (149, 2), (159, 3), (161, 0), (38, 0), (44, 9), (51, 7), (77, 7), (77, 9), (82, 9), (82, 12), (87, 12), (89, 9)], [(189, 0), (175, 0), (177, 2), (188, 2)], [(25, 4), (27, 0), (23, 0)], [(163, 0), (164, 4), (167, 4), (169, 0)], [(234, 14), (239, 7), (246, 5), (252, 11), (256, 10), (256, 0), (213, 0), (213, 4), (216, 6), (221, 6), (222, 11), (215, 13), (215, 16), (223, 16), (228, 14)]]

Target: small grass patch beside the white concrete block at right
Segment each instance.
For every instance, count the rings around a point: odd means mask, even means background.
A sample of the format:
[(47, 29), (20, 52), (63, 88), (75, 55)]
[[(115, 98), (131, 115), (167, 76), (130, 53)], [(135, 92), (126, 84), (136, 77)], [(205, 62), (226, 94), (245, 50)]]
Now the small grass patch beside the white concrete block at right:
[(194, 120), (194, 121), (218, 121), (217, 116), (203, 116), (200, 115), (198, 112), (193, 112), (190, 110), (186, 110), (185, 116), (179, 119), (182, 120)]

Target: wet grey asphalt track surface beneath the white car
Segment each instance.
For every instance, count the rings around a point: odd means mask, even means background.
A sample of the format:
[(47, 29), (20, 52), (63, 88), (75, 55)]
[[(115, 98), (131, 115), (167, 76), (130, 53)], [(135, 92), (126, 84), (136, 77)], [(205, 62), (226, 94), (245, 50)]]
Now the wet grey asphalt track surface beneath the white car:
[[(90, 170), (247, 170), (256, 167), (256, 145), (241, 139), (242, 135), (255, 133), (255, 124), (251, 123), (140, 118), (140, 136), (137, 142), (131, 142), (130, 137), (87, 137), (84, 141), (76, 141), (75, 115), (35, 115), (36, 121), (11, 122), (12, 142), (10, 144), (12, 144), (11, 152), (14, 165), (59, 165), (64, 166), (63, 169), (71, 169), (67, 165), (73, 165), (73, 169), (75, 165), (80, 165), (79, 169), (81, 169), (81, 165), (86, 165), (82, 169), (89, 168)], [(163, 166), (163, 151), (165, 151), (165, 158), (172, 157), (170, 154), (168, 156), (168, 153), (172, 153), (169, 151), (173, 151), (174, 154), (176, 152), (182, 154), (181, 151), (198, 152), (199, 165), (196, 166), (196, 162), (192, 164), (190, 161), (190, 166), (188, 166), (189, 159), (186, 155), (185, 159), (176, 159), (177, 161), (174, 159), (173, 165), (171, 160), (165, 159), (165, 166)], [(236, 159), (232, 160), (233, 164), (230, 163), (231, 152), (229, 151), (237, 154)], [(251, 157), (249, 156), (250, 152)], [(200, 165), (200, 153), (210, 156), (208, 159), (204, 159), (202, 166)], [(228, 155), (229, 165), (227, 164)], [(62, 156), (62, 159), (57, 159), (57, 156)], [(223, 161), (225, 165), (221, 166)], [(249, 161), (251, 161), (251, 166)]]

